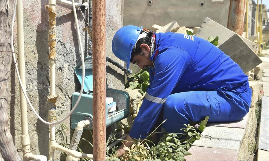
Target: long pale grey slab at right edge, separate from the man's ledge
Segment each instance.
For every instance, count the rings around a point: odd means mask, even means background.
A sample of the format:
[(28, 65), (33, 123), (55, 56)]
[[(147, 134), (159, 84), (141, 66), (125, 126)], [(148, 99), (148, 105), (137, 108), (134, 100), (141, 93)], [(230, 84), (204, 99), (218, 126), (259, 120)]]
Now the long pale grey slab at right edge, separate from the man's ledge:
[[(263, 114), (264, 113), (264, 114)], [(262, 109), (260, 115), (259, 134), (257, 140), (258, 149), (269, 151), (269, 97), (262, 96)]]

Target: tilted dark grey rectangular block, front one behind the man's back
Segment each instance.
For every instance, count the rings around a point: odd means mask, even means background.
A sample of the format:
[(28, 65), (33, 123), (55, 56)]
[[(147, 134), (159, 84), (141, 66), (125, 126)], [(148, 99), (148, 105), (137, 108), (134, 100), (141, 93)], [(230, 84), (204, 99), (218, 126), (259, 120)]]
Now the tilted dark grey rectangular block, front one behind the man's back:
[(221, 49), (221, 51), (223, 51), (226, 55), (229, 55), (230, 58), (241, 67), (244, 73), (262, 63), (261, 59), (255, 54), (255, 52), (252, 51), (252, 49), (238, 34), (232, 35), (218, 48)]

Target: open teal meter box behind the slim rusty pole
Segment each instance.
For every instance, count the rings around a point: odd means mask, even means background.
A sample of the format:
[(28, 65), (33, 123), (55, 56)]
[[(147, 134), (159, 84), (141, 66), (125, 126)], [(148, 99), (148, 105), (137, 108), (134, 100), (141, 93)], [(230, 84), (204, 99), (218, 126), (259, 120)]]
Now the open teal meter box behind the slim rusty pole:
[[(84, 87), (80, 102), (77, 108), (71, 114), (71, 128), (75, 129), (77, 123), (85, 118), (93, 119), (93, 73), (92, 73), (92, 58), (86, 57), (85, 61), (85, 78)], [(82, 83), (82, 62), (75, 67), (75, 75), (80, 84)], [(72, 94), (71, 108), (73, 109), (79, 92)], [(106, 127), (116, 123), (129, 115), (130, 96), (126, 91), (108, 88), (106, 84)], [(88, 128), (85, 128), (88, 129)], [(90, 128), (92, 129), (92, 127)]]

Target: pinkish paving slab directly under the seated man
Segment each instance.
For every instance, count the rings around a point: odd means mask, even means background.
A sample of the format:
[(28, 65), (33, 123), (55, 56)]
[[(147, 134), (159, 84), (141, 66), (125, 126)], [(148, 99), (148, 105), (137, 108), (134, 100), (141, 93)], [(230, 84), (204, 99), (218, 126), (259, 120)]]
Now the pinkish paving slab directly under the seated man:
[(241, 128), (246, 129), (247, 122), (249, 118), (249, 113), (246, 114), (244, 118), (235, 122), (223, 122), (223, 123), (207, 123), (207, 126), (218, 126), (218, 127), (231, 127), (231, 128)]

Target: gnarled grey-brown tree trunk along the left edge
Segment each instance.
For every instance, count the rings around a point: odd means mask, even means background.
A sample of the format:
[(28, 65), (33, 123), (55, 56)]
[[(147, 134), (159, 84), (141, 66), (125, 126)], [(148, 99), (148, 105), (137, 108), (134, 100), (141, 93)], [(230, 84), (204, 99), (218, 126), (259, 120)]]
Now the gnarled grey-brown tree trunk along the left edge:
[(21, 160), (10, 134), (7, 115), (10, 98), (8, 84), (12, 62), (10, 51), (14, 3), (14, 0), (0, 0), (0, 159), (4, 160)]

